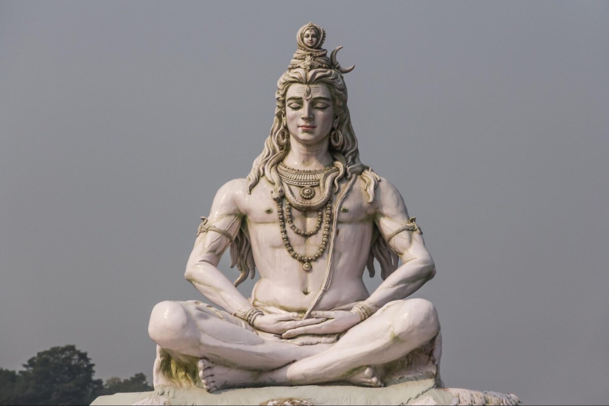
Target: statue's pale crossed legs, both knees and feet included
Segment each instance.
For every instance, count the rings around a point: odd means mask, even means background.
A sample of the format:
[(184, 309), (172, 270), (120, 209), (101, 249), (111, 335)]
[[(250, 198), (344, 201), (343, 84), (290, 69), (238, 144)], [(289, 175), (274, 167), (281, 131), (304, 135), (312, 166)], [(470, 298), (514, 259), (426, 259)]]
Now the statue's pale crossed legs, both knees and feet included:
[(177, 354), (203, 359), (203, 387), (308, 385), (347, 381), (379, 386), (372, 366), (400, 359), (440, 329), (424, 299), (393, 301), (353, 327), (334, 345), (298, 346), (259, 337), (252, 327), (200, 302), (162, 302), (150, 318), (150, 337)]

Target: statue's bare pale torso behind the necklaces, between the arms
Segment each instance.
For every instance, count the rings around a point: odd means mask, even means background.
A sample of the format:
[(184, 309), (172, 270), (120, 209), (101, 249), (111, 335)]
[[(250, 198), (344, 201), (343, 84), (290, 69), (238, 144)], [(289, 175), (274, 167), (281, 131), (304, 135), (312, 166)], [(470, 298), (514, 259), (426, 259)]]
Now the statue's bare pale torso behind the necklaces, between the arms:
[[(367, 203), (364, 182), (358, 178), (336, 211), (336, 200), (345, 189), (333, 195), (333, 212), (338, 213), (333, 250), (332, 282), (316, 309), (334, 309), (368, 297), (362, 280), (368, 260), (374, 230), (373, 204)], [(321, 289), (328, 265), (329, 243), (325, 252), (311, 262), (311, 270), (292, 258), (283, 243), (278, 220), (277, 203), (271, 198), (272, 186), (261, 178), (251, 194), (240, 194), (239, 209), (245, 215), (252, 242), (253, 256), (260, 280), (256, 283), (252, 299), (259, 306), (272, 306), (287, 311), (304, 312)], [(319, 189), (316, 191), (319, 193)], [(285, 207), (285, 201), (283, 202)], [(294, 225), (303, 231), (314, 229), (317, 211), (301, 212), (292, 208)], [(319, 249), (323, 225), (317, 234), (298, 236), (286, 224), (287, 236), (294, 251), (311, 256)]]

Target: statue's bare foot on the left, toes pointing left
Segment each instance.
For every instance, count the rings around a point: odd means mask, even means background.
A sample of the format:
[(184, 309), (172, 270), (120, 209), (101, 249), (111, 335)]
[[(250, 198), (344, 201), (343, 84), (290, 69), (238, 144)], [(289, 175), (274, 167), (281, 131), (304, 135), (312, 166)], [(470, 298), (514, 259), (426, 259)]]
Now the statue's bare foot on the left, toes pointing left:
[(202, 358), (197, 362), (203, 389), (209, 393), (228, 388), (244, 388), (253, 385), (252, 371), (230, 368)]

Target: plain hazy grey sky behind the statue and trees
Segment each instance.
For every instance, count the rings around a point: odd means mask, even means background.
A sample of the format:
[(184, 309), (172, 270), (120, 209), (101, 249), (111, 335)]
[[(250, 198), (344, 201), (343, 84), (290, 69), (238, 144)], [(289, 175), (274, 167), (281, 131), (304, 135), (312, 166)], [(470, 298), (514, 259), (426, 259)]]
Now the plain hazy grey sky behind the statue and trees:
[(150, 310), (201, 298), (199, 217), (309, 21), (437, 264), (446, 385), (609, 402), (607, 1), (0, 2), (0, 367), (152, 379)]

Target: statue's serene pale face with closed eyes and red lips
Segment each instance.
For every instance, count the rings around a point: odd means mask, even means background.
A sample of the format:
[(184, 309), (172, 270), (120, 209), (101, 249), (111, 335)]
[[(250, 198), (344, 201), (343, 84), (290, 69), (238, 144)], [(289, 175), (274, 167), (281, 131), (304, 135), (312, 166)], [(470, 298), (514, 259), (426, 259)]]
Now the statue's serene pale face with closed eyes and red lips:
[(317, 144), (329, 136), (334, 119), (328, 86), (293, 83), (286, 93), (287, 130), (303, 144)]

